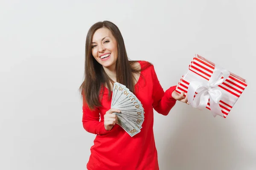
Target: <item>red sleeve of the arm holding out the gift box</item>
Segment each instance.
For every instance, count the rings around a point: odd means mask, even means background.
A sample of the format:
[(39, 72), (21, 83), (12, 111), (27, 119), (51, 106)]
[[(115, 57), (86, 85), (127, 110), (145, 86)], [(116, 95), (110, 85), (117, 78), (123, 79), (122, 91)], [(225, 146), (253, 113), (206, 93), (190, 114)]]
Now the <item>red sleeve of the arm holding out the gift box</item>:
[(152, 69), (152, 77), (153, 77), (153, 108), (157, 113), (168, 115), (170, 110), (176, 103), (176, 99), (172, 97), (172, 92), (175, 91), (176, 86), (170, 87), (168, 90), (163, 91), (162, 86), (157, 78), (157, 74), (154, 70), (154, 66)]

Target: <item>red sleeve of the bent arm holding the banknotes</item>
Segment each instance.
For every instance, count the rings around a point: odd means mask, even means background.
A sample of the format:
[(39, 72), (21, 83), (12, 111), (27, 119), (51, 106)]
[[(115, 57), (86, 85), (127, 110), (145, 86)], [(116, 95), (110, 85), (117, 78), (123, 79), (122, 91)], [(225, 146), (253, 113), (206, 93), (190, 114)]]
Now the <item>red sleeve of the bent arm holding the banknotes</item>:
[(84, 129), (89, 133), (104, 135), (111, 131), (105, 129), (103, 120), (99, 122), (99, 109), (90, 110), (86, 102), (83, 102), (82, 122)]

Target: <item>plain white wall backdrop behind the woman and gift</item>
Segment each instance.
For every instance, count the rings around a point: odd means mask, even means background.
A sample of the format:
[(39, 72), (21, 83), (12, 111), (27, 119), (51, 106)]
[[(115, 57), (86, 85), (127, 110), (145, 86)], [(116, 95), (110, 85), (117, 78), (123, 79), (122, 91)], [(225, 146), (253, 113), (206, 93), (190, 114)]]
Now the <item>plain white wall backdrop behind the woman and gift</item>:
[(254, 0), (1, 0), (0, 169), (86, 169), (95, 135), (81, 122), (85, 38), (110, 20), (128, 57), (152, 62), (164, 90), (195, 54), (247, 80), (226, 119), (181, 102), (168, 116), (155, 112), (160, 170), (255, 170), (255, 8)]

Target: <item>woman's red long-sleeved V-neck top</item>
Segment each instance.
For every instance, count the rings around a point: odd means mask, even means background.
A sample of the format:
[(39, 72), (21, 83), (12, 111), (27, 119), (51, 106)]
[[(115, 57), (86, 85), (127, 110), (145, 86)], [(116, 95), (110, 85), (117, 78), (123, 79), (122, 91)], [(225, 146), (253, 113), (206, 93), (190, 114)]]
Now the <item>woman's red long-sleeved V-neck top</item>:
[[(139, 63), (143, 68), (146, 62), (139, 61)], [(167, 115), (176, 103), (172, 98), (175, 87), (164, 92), (153, 65), (141, 71), (135, 85), (135, 94), (143, 105), (145, 120), (141, 132), (133, 137), (117, 124), (110, 131), (105, 130), (104, 114), (111, 108), (107, 88), (102, 89), (104, 90), (102, 107), (90, 111), (84, 102), (82, 119), (84, 129), (97, 134), (94, 145), (90, 149), (91, 155), (87, 169), (159, 170), (153, 133), (153, 108), (158, 113)]]

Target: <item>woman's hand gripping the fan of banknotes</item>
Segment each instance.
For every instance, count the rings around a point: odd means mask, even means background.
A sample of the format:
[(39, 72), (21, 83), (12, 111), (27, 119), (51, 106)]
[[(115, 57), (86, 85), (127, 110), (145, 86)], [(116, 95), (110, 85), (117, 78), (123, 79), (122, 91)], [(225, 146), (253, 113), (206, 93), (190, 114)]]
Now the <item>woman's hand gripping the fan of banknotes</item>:
[(106, 114), (104, 115), (104, 126), (106, 130), (111, 130), (113, 126), (117, 123), (117, 116), (112, 113), (120, 113), (118, 109), (109, 109)]

